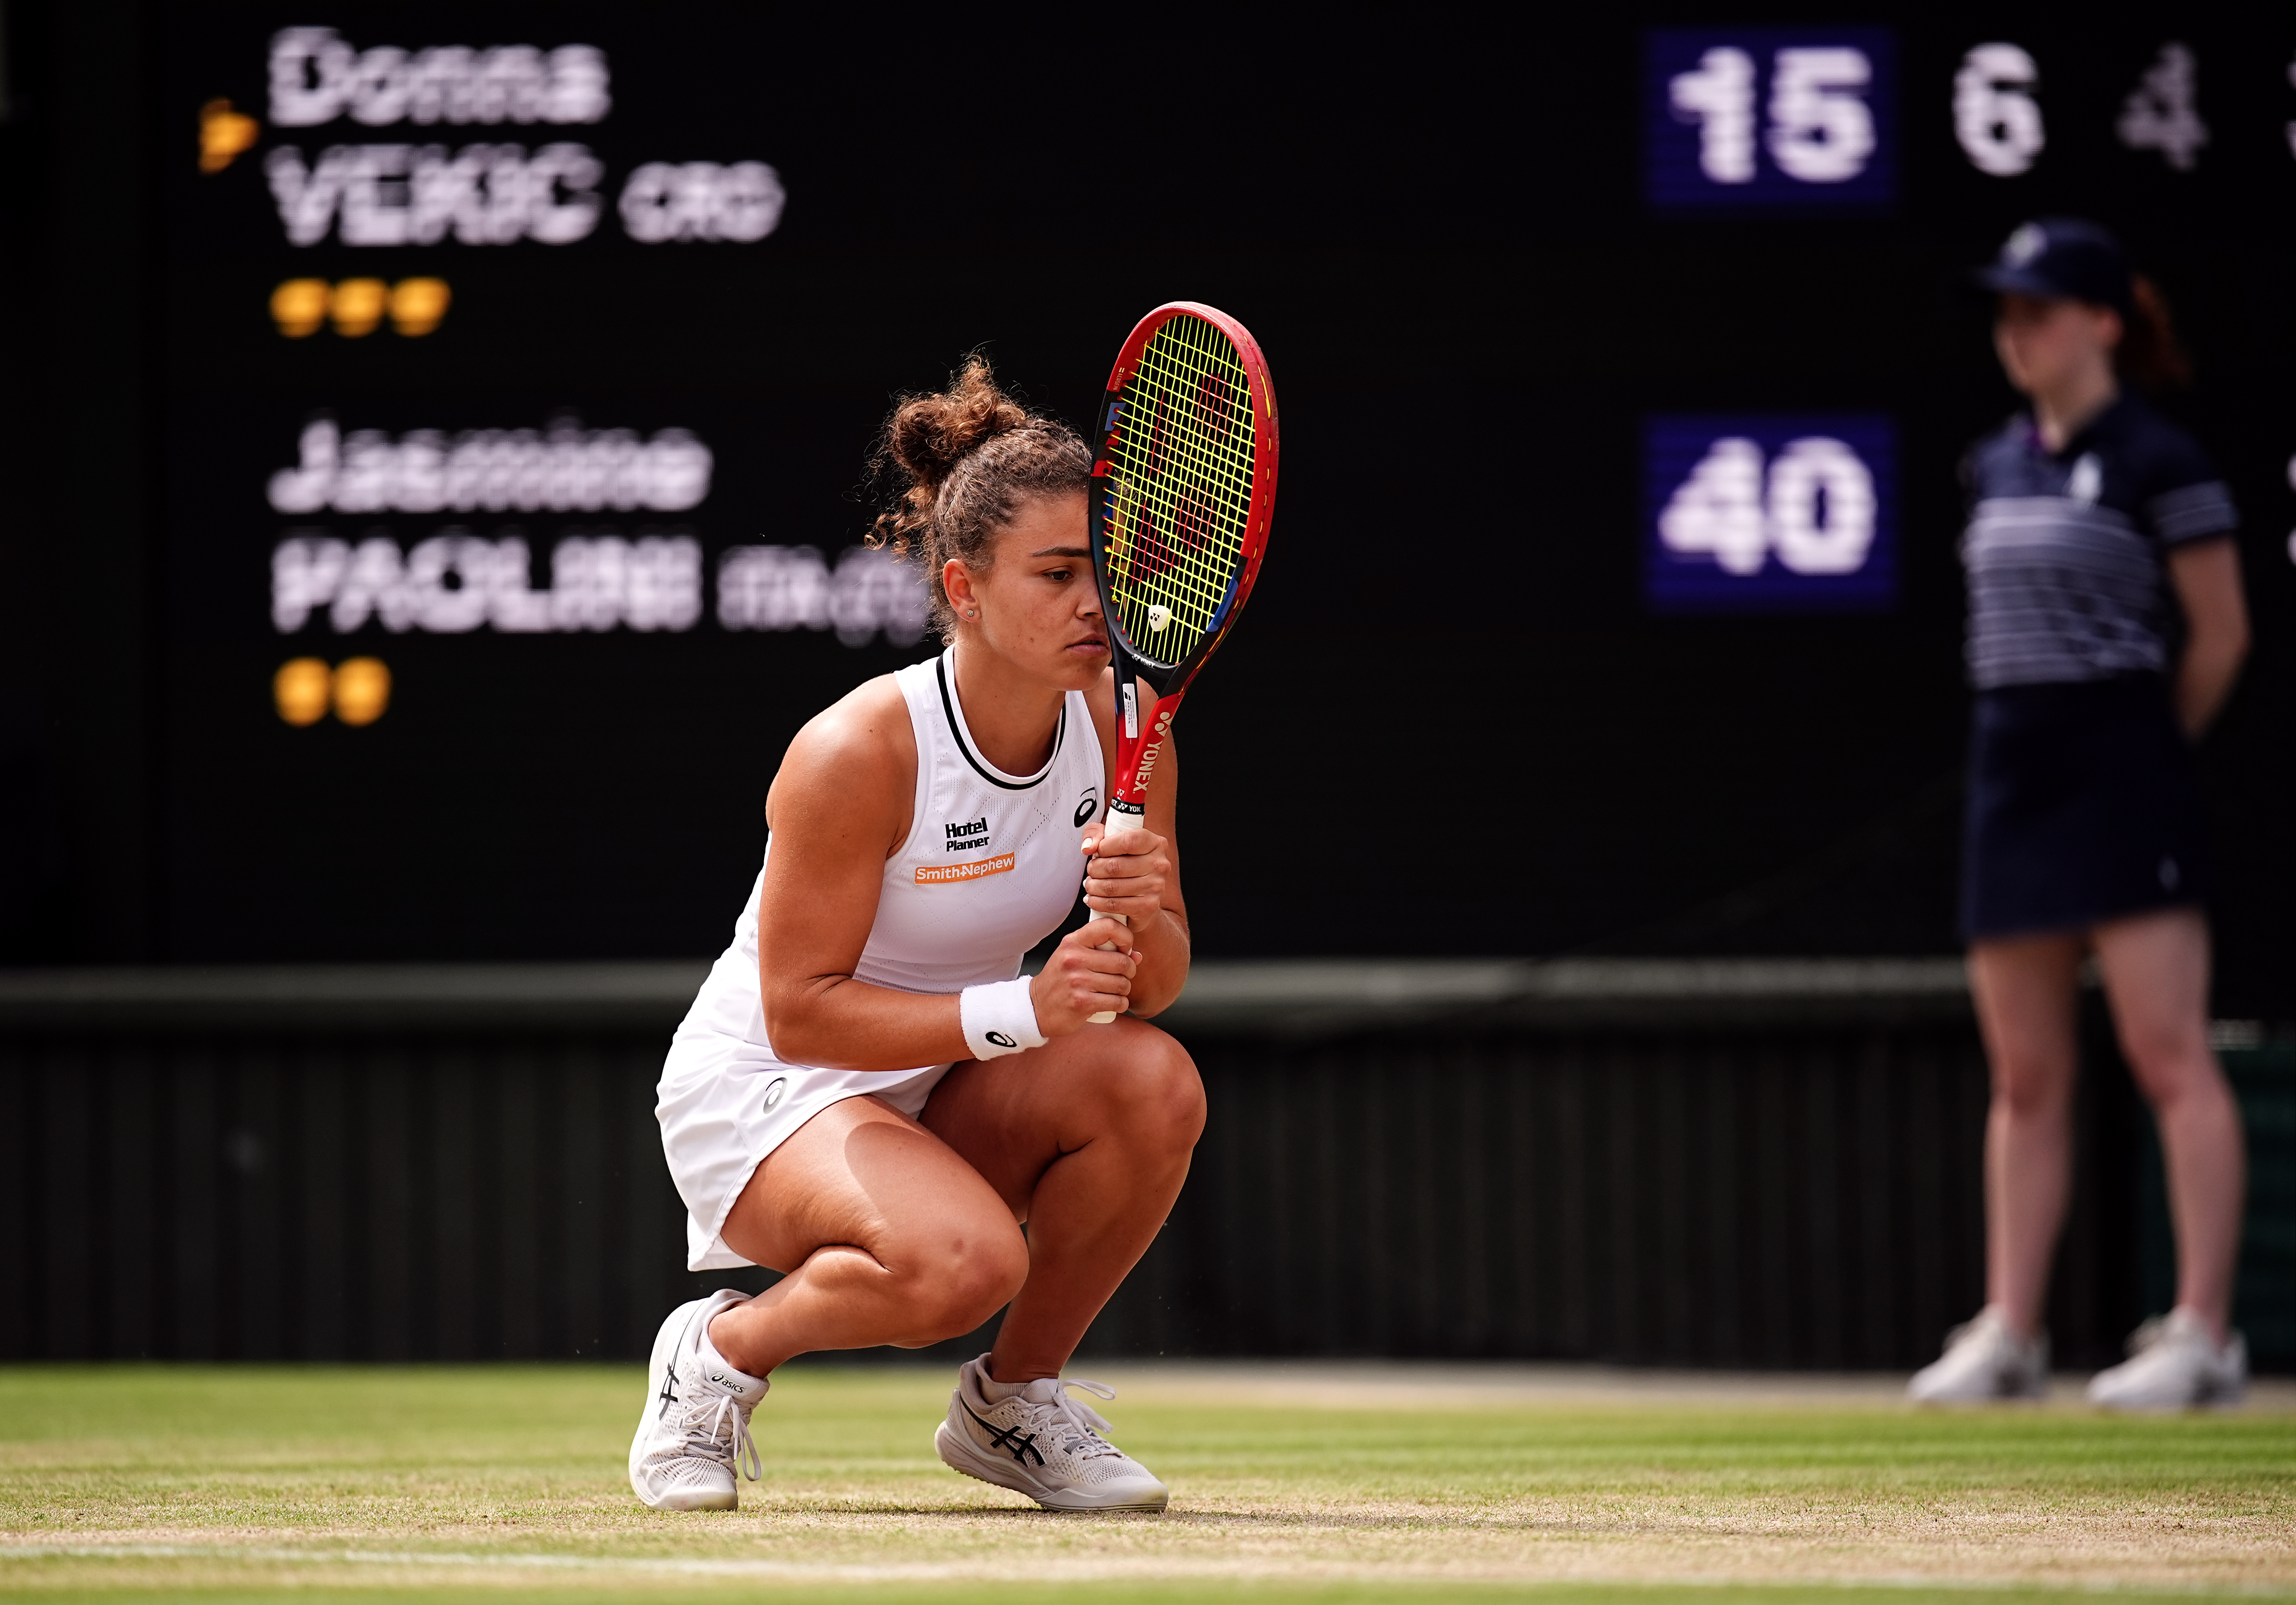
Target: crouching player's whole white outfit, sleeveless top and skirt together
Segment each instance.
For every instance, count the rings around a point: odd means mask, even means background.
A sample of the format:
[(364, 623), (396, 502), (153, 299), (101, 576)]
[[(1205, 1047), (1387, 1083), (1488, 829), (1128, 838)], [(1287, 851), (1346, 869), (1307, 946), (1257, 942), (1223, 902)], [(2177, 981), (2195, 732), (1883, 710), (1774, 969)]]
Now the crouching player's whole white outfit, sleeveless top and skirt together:
[[(1100, 813), (1100, 735), (1070, 691), (1052, 758), (1031, 776), (996, 769), (957, 705), (955, 650), (893, 675), (916, 730), (916, 817), (884, 861), (877, 921), (854, 978), (895, 992), (962, 992), (1010, 980), (1029, 948), (1077, 905), (1084, 827)], [(774, 843), (765, 845), (767, 863)], [(735, 921), (661, 1068), (654, 1116), (677, 1196), (687, 1201), (687, 1270), (748, 1265), (719, 1238), (751, 1171), (797, 1127), (843, 1098), (875, 1093), (907, 1116), (948, 1065), (817, 1070), (792, 1065), (765, 1036), (758, 1001), (758, 895)]]

